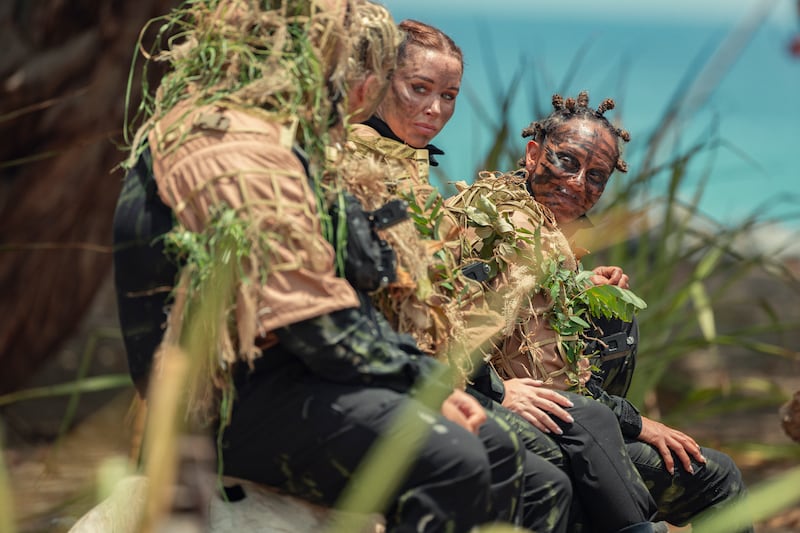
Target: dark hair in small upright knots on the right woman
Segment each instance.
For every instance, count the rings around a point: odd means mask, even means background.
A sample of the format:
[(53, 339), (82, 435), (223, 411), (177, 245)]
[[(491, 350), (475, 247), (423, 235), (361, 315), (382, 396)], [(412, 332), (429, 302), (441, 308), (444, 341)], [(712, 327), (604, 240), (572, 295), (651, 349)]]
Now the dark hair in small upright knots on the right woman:
[[(589, 107), (589, 93), (586, 91), (578, 93), (578, 98), (570, 97), (566, 100), (560, 94), (554, 94), (553, 112), (543, 120), (531, 122), (527, 128), (522, 130), (522, 137), (533, 137), (534, 141), (542, 143), (550, 132), (568, 120), (573, 118), (595, 120), (605, 126), (617, 138), (616, 169), (620, 172), (627, 172), (628, 164), (619, 158), (619, 140), (628, 142), (631, 139), (631, 135), (627, 131), (611, 124), (605, 117), (605, 112), (609, 109), (614, 109), (614, 105), (614, 100), (606, 98), (597, 106), (597, 109), (592, 109)], [(525, 165), (525, 158), (520, 159), (519, 165)]]

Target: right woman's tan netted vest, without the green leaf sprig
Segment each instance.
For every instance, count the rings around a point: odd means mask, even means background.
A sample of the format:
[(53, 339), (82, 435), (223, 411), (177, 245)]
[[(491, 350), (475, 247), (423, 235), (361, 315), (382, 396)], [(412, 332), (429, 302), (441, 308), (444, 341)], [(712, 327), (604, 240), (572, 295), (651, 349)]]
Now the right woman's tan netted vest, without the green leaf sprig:
[[(588, 362), (571, 368), (561, 345), (577, 337), (563, 338), (549, 326), (552, 301), (539, 284), (542, 261), (537, 254), (562, 268), (577, 268), (553, 215), (530, 196), (518, 175), (482, 173), (474, 184), (457, 187), (460, 192), (448, 206), (463, 227), (470, 227), (464, 256), (499, 267), (487, 282), (486, 298), (504, 318), (502, 340), (488, 355), (491, 364), (504, 379), (534, 378), (561, 390), (572, 388), (578, 378), (585, 383)], [(498, 238), (493, 249), (484, 250), (490, 235)]]

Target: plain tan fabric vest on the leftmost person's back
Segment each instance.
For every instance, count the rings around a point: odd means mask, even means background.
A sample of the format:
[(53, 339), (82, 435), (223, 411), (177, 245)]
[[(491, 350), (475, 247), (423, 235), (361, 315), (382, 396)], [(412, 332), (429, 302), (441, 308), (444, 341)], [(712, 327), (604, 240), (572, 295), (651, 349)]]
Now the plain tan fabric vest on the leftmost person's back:
[[(317, 204), (292, 153), (294, 123), (258, 108), (183, 102), (149, 135), (161, 199), (180, 224), (207, 229), (220, 206), (235, 209), (269, 242), (250, 254), (236, 297), (240, 357), (260, 354), (254, 343), (282, 326), (358, 306), (334, 270), (334, 252), (320, 228)], [(264, 273), (267, 274), (264, 279)]]

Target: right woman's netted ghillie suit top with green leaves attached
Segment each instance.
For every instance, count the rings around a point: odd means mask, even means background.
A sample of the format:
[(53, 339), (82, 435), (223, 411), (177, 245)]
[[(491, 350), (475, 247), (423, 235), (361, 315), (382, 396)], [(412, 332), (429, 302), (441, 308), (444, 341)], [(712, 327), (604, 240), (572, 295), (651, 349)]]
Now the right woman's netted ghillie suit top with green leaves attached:
[(465, 230), (462, 257), (489, 267), (487, 301), (502, 310), (503, 338), (488, 354), (504, 379), (531, 377), (582, 390), (590, 375), (584, 330), (591, 316), (630, 317), (644, 303), (593, 286), (553, 215), (525, 187), (527, 174), (483, 172), (457, 184), (448, 209)]

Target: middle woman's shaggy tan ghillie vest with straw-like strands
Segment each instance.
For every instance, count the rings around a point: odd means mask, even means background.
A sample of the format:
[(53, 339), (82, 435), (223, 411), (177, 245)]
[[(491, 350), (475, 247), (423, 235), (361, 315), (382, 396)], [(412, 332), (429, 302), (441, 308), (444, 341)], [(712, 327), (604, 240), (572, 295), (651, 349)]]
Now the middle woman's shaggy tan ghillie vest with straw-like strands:
[(397, 279), (372, 292), (373, 301), (397, 331), (448, 363), (456, 384), (463, 385), (481, 346), (499, 333), (500, 316), (485, 305), (478, 282), (460, 268), (460, 230), (429, 182), (428, 150), (357, 124), (345, 159), (345, 186), (366, 209), (402, 199), (411, 213), (411, 220), (380, 232), (397, 253)]

